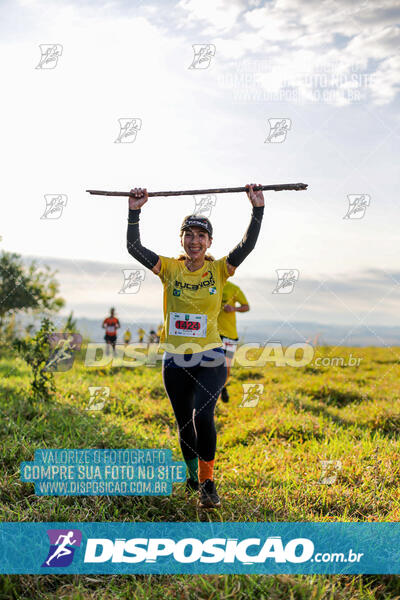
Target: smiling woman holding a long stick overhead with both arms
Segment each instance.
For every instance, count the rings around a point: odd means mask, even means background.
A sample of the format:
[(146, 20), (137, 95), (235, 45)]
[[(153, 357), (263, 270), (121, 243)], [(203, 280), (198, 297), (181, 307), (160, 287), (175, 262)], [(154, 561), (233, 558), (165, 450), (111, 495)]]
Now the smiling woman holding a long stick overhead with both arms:
[(186, 489), (191, 492), (200, 488), (200, 508), (221, 504), (213, 477), (217, 441), (214, 409), (227, 369), (217, 319), (224, 284), (253, 250), (260, 231), (264, 196), (262, 191), (254, 191), (254, 185), (246, 185), (253, 205), (250, 225), (242, 241), (219, 260), (206, 254), (213, 230), (210, 221), (199, 215), (185, 217), (182, 223), (183, 256), (167, 258), (142, 246), (139, 216), (148, 200), (147, 190), (130, 191), (127, 248), (163, 283), (164, 327), (160, 342), (167, 349), (163, 381), (188, 469)]

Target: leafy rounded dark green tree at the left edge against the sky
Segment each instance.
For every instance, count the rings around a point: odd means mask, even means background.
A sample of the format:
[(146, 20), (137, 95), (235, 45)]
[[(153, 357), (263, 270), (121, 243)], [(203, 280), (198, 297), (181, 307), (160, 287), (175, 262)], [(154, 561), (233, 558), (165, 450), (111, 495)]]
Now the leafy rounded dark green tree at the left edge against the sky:
[(58, 296), (55, 273), (36, 261), (25, 265), (19, 254), (3, 251), (0, 255), (0, 329), (5, 320), (21, 312), (57, 312), (64, 306)]

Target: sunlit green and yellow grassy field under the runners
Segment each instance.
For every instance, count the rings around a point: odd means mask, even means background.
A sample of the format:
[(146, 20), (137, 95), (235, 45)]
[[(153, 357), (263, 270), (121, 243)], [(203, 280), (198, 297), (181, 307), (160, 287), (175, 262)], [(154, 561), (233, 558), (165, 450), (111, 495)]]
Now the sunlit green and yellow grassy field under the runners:
[[(345, 366), (348, 356), (359, 366)], [(216, 410), (215, 479), (222, 507), (198, 511), (184, 484), (171, 497), (38, 497), (19, 479), (36, 449), (171, 448), (181, 460), (160, 367), (87, 368), (55, 374), (50, 403), (29, 401), (30, 369), (0, 360), (2, 521), (398, 521), (400, 348), (318, 348), (344, 365), (233, 368), (229, 404)], [(254, 407), (242, 384), (264, 385)], [(87, 411), (89, 386), (109, 386)], [(341, 461), (333, 484), (322, 460)], [(332, 473), (326, 474), (327, 476)], [(335, 474), (333, 473), (334, 477)], [(397, 576), (3, 576), (0, 599), (400, 598)]]

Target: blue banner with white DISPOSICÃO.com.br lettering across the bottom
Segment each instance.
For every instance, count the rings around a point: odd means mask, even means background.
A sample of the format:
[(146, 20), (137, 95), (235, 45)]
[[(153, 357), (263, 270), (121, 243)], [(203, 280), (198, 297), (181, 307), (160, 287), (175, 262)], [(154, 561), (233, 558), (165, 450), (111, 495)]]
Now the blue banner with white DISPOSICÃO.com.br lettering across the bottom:
[(400, 573), (400, 523), (1, 523), (0, 573)]

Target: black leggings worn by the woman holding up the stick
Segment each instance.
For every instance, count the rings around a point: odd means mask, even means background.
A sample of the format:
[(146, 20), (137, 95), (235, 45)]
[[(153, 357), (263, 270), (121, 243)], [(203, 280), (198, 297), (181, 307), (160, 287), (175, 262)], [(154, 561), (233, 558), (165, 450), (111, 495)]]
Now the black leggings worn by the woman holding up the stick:
[(200, 359), (193, 366), (179, 366), (182, 363), (177, 365), (174, 356), (164, 354), (163, 381), (178, 423), (183, 458), (214, 460), (217, 444), (214, 409), (226, 380), (225, 356), (221, 348), (187, 356), (193, 363), (201, 356), (204, 362), (218, 362), (217, 366), (202, 366)]

